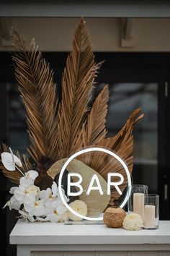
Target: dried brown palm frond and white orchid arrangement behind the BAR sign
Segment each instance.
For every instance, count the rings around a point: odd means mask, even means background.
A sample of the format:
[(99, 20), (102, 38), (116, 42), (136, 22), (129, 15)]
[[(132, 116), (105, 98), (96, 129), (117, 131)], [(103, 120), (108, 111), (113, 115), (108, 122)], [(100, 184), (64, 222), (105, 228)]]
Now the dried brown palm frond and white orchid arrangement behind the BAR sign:
[[(127, 163), (131, 173), (133, 127), (143, 119), (143, 114), (140, 108), (135, 109), (117, 135), (107, 136), (109, 88), (104, 85), (93, 103), (90, 102), (91, 91), (96, 85), (94, 80), (102, 62), (97, 64), (95, 61), (83, 18), (76, 28), (71, 53), (68, 54), (63, 71), (61, 95), (58, 95), (60, 90), (56, 90), (53, 71), (42, 58), (35, 40), (32, 39), (30, 47), (27, 48), (24, 36), (13, 29), (12, 41), (17, 49), (12, 59), (19, 93), (27, 111), (30, 147), (28, 155), (19, 155), (19, 152), (13, 154), (7, 145), (2, 145), (0, 169), (18, 186), (10, 190), (12, 198), (6, 206), (19, 210), (22, 218), (29, 221), (65, 221), (68, 218), (77, 220), (61, 203), (57, 188), (61, 168), (57, 169), (56, 166), (82, 148), (97, 146), (115, 150)], [(102, 156), (102, 153), (99, 156), (91, 152), (88, 157), (81, 155), (78, 160), (90, 168), (89, 171), (97, 171), (98, 176), (106, 182), (110, 171), (116, 169), (122, 173), (123, 168), (117, 161), (103, 163)], [(64, 176), (63, 189), (66, 188), (66, 181), (67, 173)], [(126, 186), (127, 179), (120, 187), (121, 192)], [(63, 193), (66, 194), (66, 190)], [(101, 205), (95, 196), (90, 200), (84, 199), (84, 202), (81, 202), (81, 197), (67, 200), (71, 207), (84, 213), (83, 215), (88, 215), (95, 205), (98, 209), (95, 214), (99, 215), (107, 207), (116, 205), (119, 197), (113, 187), (110, 197), (102, 200), (104, 203)]]

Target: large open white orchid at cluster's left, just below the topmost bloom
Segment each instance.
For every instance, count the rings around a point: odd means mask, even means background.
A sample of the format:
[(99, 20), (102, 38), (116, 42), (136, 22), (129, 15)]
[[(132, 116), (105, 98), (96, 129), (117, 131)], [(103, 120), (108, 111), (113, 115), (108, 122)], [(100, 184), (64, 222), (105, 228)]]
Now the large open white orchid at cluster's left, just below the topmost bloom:
[(21, 185), (14, 190), (14, 197), (17, 199), (17, 201), (21, 202), (21, 204), (30, 204), (35, 202), (35, 192), (32, 192), (32, 189)]

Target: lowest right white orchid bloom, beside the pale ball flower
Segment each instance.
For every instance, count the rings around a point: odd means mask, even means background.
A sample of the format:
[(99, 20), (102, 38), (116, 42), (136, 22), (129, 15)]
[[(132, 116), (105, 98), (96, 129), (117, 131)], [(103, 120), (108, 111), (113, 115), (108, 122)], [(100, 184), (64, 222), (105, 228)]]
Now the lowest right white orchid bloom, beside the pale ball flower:
[(58, 222), (61, 220), (64, 213), (66, 213), (67, 208), (63, 205), (58, 205), (56, 208), (51, 209), (50, 213), (47, 214), (45, 221)]

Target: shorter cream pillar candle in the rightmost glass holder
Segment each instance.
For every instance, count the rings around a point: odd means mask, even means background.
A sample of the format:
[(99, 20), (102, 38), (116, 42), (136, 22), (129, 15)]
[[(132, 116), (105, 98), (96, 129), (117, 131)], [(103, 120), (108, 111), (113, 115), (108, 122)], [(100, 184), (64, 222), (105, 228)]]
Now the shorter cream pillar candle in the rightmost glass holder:
[(145, 228), (154, 228), (155, 227), (155, 205), (145, 205), (144, 212), (144, 227)]

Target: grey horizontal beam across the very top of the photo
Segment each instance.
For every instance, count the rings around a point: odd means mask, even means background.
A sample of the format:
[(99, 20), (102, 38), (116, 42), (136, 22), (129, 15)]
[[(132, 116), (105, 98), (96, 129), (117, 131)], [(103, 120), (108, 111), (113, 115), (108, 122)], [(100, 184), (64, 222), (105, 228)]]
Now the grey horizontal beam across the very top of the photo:
[(4, 1), (0, 17), (170, 17), (170, 1)]

